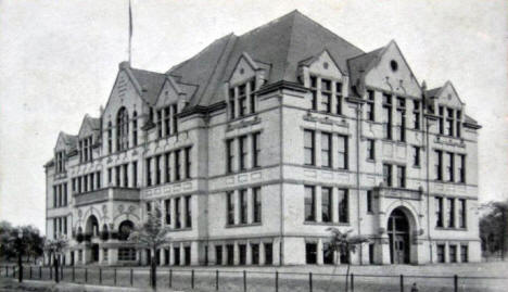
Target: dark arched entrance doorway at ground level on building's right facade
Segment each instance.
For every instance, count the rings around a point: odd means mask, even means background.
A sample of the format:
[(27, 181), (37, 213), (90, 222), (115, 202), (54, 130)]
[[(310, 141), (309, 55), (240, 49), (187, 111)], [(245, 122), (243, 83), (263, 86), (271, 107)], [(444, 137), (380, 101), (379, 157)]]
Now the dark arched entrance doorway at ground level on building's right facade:
[(406, 214), (396, 208), (389, 217), (390, 261), (392, 264), (409, 264), (409, 220)]

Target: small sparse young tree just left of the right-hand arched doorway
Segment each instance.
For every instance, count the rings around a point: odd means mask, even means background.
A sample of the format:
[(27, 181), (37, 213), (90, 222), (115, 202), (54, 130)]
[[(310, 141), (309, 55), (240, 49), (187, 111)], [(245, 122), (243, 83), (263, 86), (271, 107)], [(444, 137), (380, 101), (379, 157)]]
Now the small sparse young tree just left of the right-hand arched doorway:
[[(353, 229), (347, 230), (346, 232), (342, 232), (336, 227), (329, 227), (327, 231), (331, 232), (330, 238), (330, 249), (327, 251), (329, 253), (335, 252), (335, 263), (339, 263), (339, 255), (346, 255), (347, 256), (347, 270), (345, 275), (345, 292), (348, 289), (348, 279), (350, 279), (350, 268), (351, 268), (351, 261), (350, 256), (352, 253), (356, 252), (356, 247), (364, 243), (369, 242), (369, 239), (365, 236), (351, 236)], [(333, 272), (335, 274), (336, 265), (333, 268)], [(328, 284), (327, 291), (330, 289), (331, 279)]]

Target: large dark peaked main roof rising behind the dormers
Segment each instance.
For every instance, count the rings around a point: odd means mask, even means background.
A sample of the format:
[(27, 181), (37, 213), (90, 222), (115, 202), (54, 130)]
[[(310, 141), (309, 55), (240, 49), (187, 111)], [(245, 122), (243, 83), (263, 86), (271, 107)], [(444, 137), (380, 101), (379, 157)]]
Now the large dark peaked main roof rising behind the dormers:
[(342, 72), (346, 60), (363, 51), (329, 29), (293, 11), (242, 36), (223, 37), (194, 58), (170, 68), (168, 74), (199, 86), (191, 105), (212, 105), (221, 101), (220, 85), (231, 76), (245, 52), (255, 62), (270, 66), (268, 82), (297, 82), (299, 62), (327, 50)]

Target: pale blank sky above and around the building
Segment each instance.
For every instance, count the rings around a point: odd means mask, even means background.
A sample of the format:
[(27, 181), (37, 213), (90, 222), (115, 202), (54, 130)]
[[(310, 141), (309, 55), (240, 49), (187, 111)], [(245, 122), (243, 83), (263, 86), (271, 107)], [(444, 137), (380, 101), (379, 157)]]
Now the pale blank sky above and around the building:
[[(508, 198), (508, 10), (497, 0), (132, 0), (132, 66), (165, 72), (295, 9), (364, 51), (394, 39), (421, 82), (452, 80), (483, 126), (480, 202)], [(0, 0), (0, 220), (45, 231), (43, 164), (99, 116), (127, 60), (127, 0)]]

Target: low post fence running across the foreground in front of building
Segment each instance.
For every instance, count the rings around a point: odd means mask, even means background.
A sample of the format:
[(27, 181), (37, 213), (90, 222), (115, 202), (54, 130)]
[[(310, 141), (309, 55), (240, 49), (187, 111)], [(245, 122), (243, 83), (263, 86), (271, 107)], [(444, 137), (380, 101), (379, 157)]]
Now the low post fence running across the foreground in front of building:
[[(1, 277), (16, 278), (16, 266), (0, 267)], [(62, 267), (60, 279), (64, 282), (114, 287), (147, 288), (150, 271), (147, 268), (124, 267)], [(24, 266), (24, 279), (53, 280), (54, 269), (42, 266)], [(280, 272), (219, 269), (157, 269), (157, 288), (191, 289), (194, 291), (274, 291), (321, 292), (345, 291), (345, 275), (318, 272)], [(363, 275), (348, 276), (351, 292), (401, 291), (410, 292), (414, 283), (419, 292), (442, 291), (505, 291), (508, 279), (501, 277), (417, 276), (417, 275)]]

